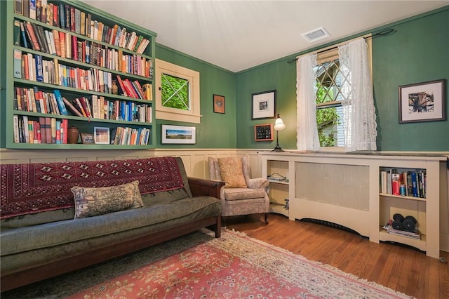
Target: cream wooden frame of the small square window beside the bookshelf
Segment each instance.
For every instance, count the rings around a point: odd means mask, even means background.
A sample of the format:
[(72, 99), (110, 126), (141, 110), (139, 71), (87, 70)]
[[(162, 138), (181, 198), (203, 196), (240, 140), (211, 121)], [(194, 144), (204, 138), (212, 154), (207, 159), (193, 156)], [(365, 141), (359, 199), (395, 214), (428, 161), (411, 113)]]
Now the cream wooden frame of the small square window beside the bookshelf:
[[(168, 74), (173, 77), (179, 77), (189, 81), (189, 102), (190, 109), (182, 110), (162, 105), (161, 75)], [(155, 101), (156, 101), (156, 119), (165, 119), (170, 121), (184, 121), (199, 124), (200, 114), (200, 76), (199, 72), (186, 67), (181, 67), (164, 60), (156, 59), (155, 71)]]

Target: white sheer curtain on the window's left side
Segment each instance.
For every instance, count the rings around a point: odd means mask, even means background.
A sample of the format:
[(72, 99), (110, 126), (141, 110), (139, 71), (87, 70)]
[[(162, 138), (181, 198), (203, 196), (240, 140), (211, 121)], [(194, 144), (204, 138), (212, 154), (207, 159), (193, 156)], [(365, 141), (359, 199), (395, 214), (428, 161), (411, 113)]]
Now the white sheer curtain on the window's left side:
[(320, 150), (316, 127), (316, 54), (301, 56), (296, 62), (297, 150)]

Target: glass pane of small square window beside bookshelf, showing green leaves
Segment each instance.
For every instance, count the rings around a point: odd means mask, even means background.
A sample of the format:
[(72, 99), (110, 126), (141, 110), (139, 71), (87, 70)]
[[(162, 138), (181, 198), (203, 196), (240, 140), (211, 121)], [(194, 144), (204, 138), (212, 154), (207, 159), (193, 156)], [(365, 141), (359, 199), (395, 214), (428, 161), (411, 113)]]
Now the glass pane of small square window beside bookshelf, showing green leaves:
[(189, 80), (161, 74), (161, 89), (163, 107), (190, 110)]

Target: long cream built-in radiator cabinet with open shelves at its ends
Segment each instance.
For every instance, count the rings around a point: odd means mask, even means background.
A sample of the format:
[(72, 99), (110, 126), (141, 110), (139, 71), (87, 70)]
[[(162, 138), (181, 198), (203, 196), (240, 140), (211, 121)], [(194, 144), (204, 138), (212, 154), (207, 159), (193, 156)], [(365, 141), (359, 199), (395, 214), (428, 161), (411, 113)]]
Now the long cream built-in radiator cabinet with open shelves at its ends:
[[(449, 249), (448, 219), (440, 211), (448, 211), (447, 157), (436, 154), (382, 152), (260, 152), (262, 175), (277, 172), (288, 178), (276, 200), (288, 198), (290, 220), (319, 220), (335, 227), (345, 227), (370, 241), (393, 241), (426, 251), (438, 258)], [(413, 184), (399, 194), (382, 190), (382, 171), (421, 173), (422, 190)], [(399, 187), (401, 187), (399, 178)], [(402, 185), (405, 185), (402, 183)], [(411, 188), (411, 189), (410, 189)], [(411, 193), (410, 193), (411, 192)], [(417, 196), (417, 194), (422, 194)], [(272, 197), (270, 197), (272, 200)], [(395, 214), (415, 219), (416, 234), (395, 232), (384, 227)]]

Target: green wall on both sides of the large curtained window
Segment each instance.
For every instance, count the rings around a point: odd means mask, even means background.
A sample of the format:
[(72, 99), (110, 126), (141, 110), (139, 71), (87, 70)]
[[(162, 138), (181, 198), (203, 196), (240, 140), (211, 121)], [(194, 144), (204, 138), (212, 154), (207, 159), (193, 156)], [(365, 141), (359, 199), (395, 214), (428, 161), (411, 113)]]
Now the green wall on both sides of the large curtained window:
[[(373, 39), (377, 150), (448, 151), (448, 120), (398, 124), (398, 86), (446, 79), (447, 116), (449, 6), (388, 27), (396, 29), (396, 32)], [(255, 142), (253, 137), (255, 124), (274, 123), (274, 119), (252, 121), (250, 117), (251, 93), (276, 89), (276, 113), (281, 114), (287, 126), (286, 130), (279, 133), (279, 143), (283, 149), (296, 150), (296, 67), (295, 63), (287, 63), (288, 59), (296, 55), (237, 74), (238, 148), (270, 148), (276, 145), (275, 141)]]

